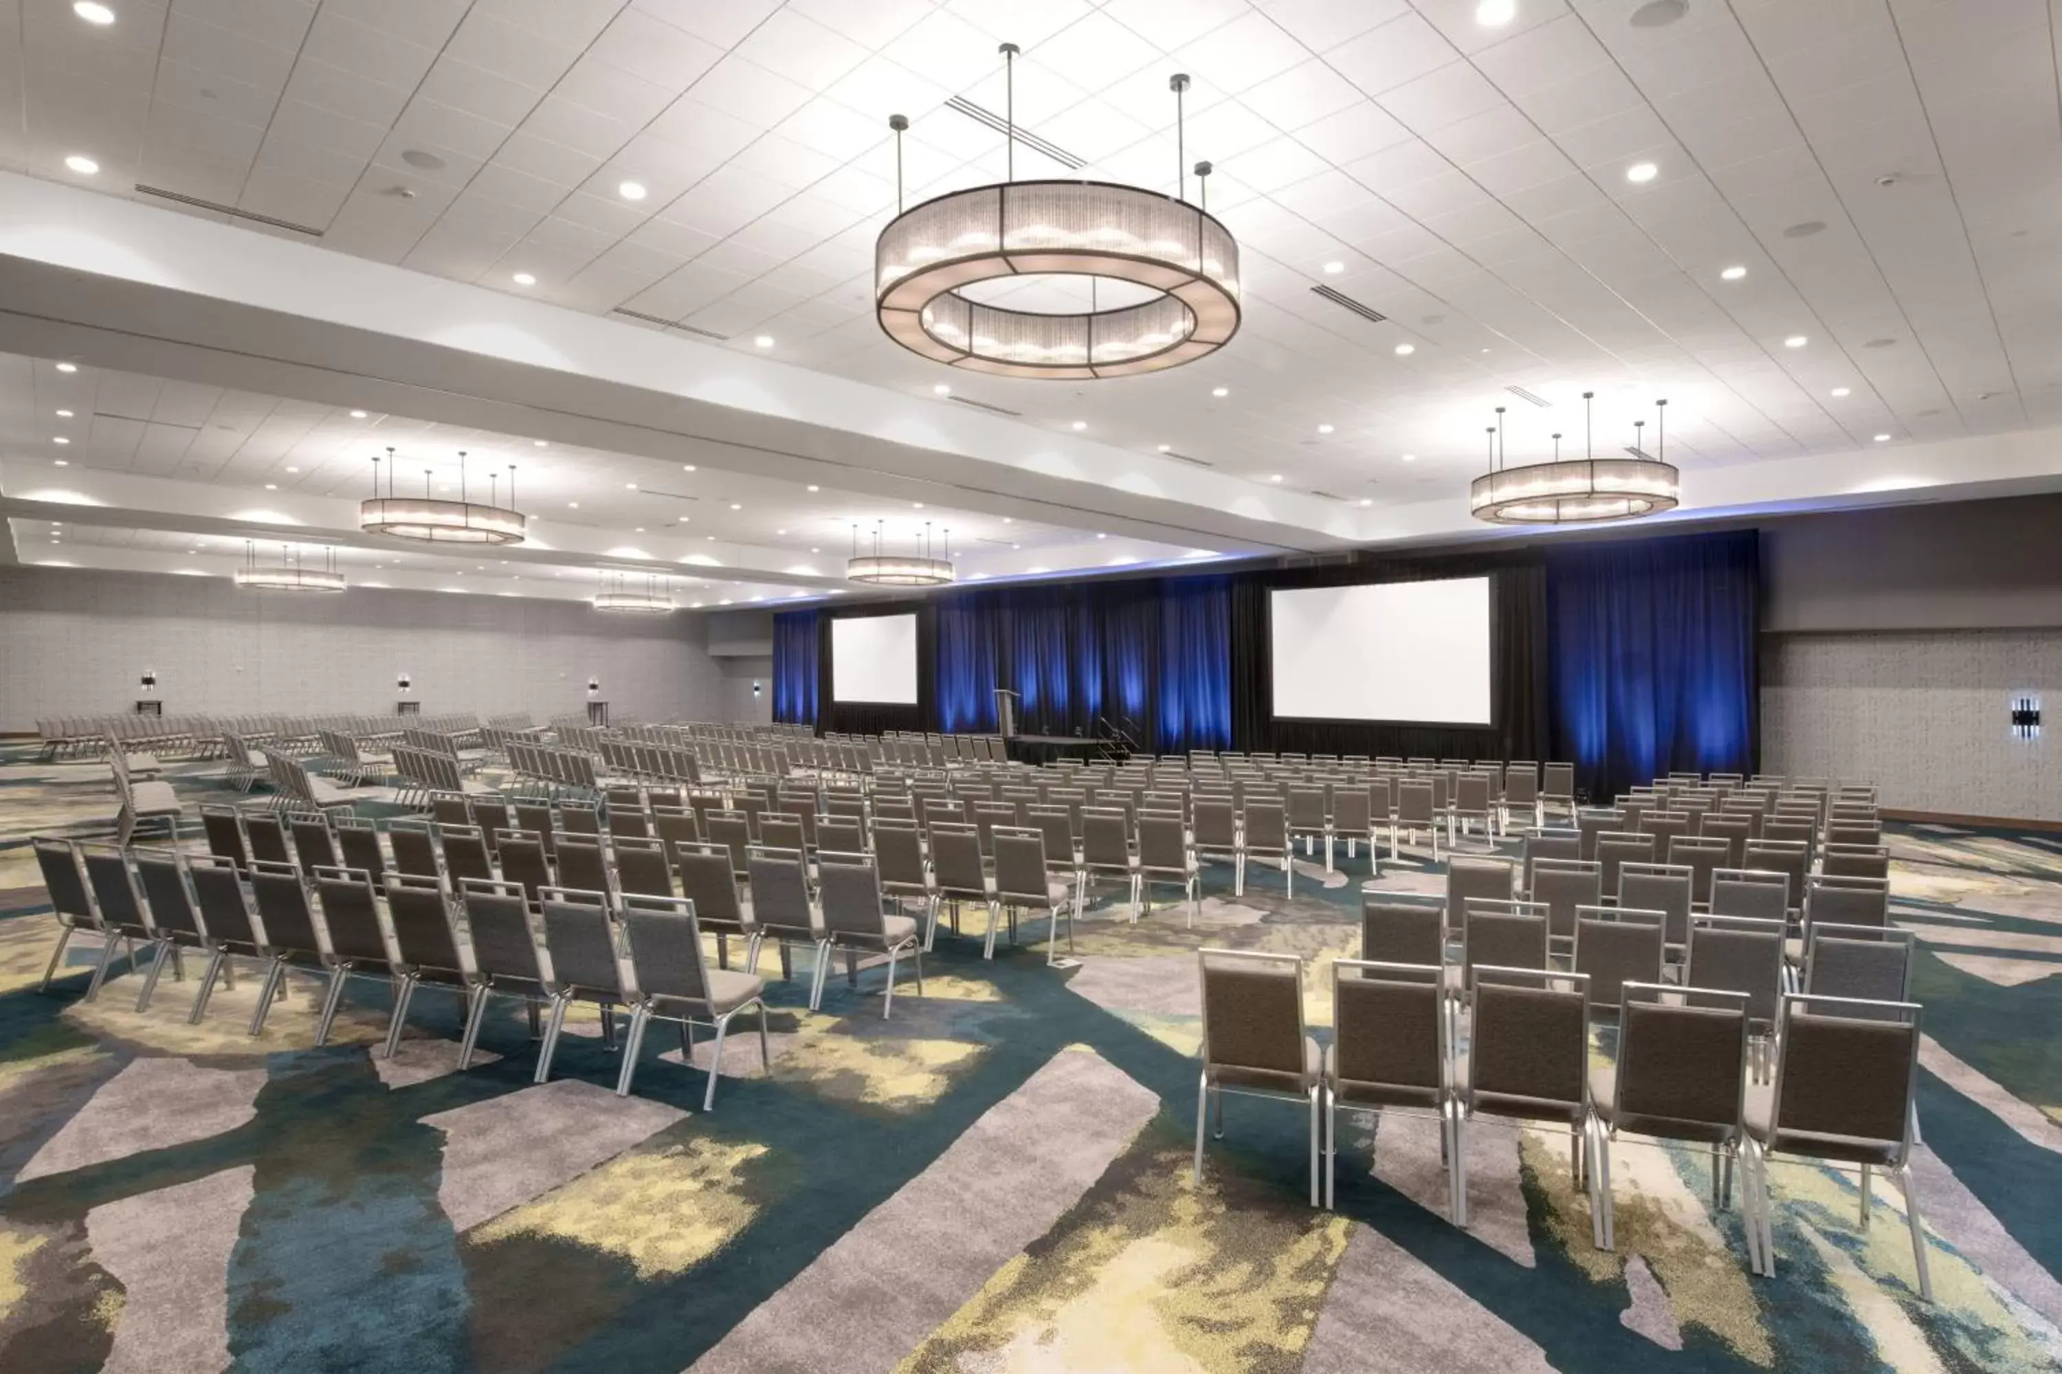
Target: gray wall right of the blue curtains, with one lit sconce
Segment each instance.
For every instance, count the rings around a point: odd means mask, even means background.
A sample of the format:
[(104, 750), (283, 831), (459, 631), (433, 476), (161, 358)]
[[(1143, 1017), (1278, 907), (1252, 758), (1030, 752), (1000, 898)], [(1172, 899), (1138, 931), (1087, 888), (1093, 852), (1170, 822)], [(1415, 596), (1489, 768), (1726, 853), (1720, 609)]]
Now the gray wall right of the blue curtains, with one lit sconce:
[(1761, 529), (1761, 766), (1895, 810), (2062, 820), (2062, 496), (1800, 515)]

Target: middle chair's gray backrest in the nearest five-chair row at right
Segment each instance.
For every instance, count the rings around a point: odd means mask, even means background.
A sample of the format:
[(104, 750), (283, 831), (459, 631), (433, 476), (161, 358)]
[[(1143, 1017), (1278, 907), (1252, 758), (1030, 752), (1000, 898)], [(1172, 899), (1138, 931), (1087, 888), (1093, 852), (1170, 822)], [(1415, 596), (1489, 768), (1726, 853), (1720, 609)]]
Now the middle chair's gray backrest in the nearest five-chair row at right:
[(1468, 997), (1468, 1102), (1505, 1117), (1577, 1121), (1590, 1102), (1590, 981), (1485, 966)]

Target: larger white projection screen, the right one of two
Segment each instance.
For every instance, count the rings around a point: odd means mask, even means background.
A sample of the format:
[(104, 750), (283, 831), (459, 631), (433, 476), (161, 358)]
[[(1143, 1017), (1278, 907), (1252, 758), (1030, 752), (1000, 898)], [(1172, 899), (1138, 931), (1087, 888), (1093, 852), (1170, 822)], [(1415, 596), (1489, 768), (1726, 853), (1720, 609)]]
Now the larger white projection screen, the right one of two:
[(1274, 715), (1493, 725), (1489, 579), (1276, 589)]

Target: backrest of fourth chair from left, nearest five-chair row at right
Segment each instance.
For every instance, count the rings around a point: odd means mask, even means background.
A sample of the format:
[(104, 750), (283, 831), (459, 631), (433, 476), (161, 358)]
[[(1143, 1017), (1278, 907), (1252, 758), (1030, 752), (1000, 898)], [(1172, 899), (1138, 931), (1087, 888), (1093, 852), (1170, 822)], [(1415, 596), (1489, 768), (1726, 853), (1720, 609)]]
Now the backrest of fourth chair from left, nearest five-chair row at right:
[(1747, 997), (1627, 983), (1619, 1003), (1617, 1119), (1641, 1135), (1736, 1137), (1747, 1108)]

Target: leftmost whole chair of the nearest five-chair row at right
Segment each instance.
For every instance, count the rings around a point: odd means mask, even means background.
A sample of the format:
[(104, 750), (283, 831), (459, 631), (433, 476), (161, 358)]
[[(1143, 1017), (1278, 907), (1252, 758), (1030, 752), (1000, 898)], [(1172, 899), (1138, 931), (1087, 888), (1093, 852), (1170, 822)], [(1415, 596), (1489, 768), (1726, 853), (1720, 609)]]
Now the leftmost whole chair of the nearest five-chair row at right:
[(1198, 950), (1196, 968), (1202, 983), (1202, 1071), (1190, 1180), (1202, 1187), (1202, 1135), (1212, 1102), (1215, 1137), (1225, 1135), (1227, 1092), (1301, 1102), (1309, 1110), (1309, 1205), (1316, 1207), (1324, 1057), (1303, 1026), (1303, 956)]

